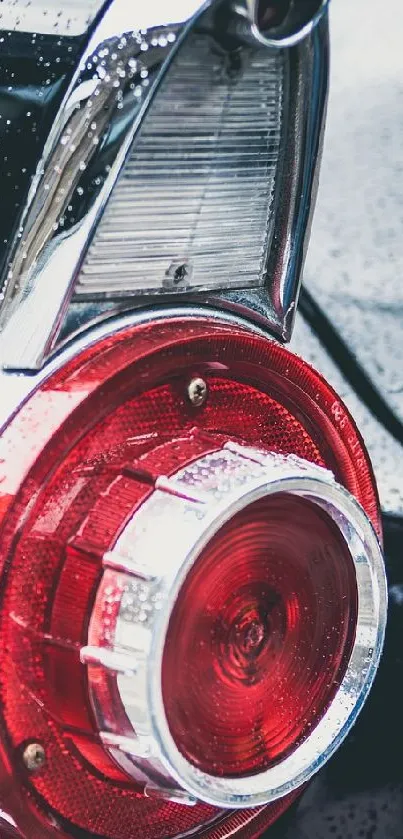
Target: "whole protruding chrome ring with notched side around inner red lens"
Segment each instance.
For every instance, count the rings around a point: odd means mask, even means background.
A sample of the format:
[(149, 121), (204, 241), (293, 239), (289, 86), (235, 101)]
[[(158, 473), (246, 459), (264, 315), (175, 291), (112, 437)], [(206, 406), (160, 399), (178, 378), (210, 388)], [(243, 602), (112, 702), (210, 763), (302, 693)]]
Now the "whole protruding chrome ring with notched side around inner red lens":
[[(163, 488), (162, 488), (163, 487)], [(194, 490), (200, 501), (194, 500)], [(346, 674), (330, 708), (292, 755), (258, 775), (226, 778), (208, 775), (179, 751), (169, 729), (162, 695), (162, 659), (169, 620), (179, 591), (210, 539), (241, 509), (274, 493), (293, 493), (322, 507), (342, 533), (355, 566), (358, 589), (357, 631)], [(158, 528), (155, 521), (158, 518)], [(126, 771), (148, 776), (154, 789), (185, 790), (196, 800), (224, 808), (255, 807), (292, 792), (316, 773), (346, 737), (370, 690), (381, 655), (386, 623), (387, 590), (382, 552), (358, 502), (327, 470), (294, 456), (268, 454), (232, 444), (204, 455), (166, 481), (156, 484), (119, 536), (116, 549), (127, 555), (130, 575), (136, 558), (149, 563), (150, 575), (163, 571), (155, 585), (129, 578), (122, 595), (112, 656), (132, 656), (131, 673), (110, 678), (133, 729), (124, 749)], [(164, 556), (161, 569), (161, 555)], [(125, 575), (121, 585), (124, 589)], [(97, 600), (101, 606), (104, 592)], [(97, 615), (99, 612), (97, 611)], [(98, 621), (98, 618), (96, 618)], [(91, 622), (89, 634), (91, 635)], [(91, 648), (92, 651), (93, 648)], [(103, 650), (102, 650), (103, 655)], [(94, 653), (91, 652), (92, 659)], [(100, 662), (97, 662), (100, 664)], [(102, 663), (101, 663), (102, 666)], [(129, 665), (126, 665), (129, 669)], [(108, 676), (107, 665), (104, 673)], [(113, 710), (102, 707), (98, 678), (88, 671), (90, 695), (101, 730), (115, 730)], [(144, 759), (143, 739), (149, 747)], [(137, 748), (138, 746), (138, 748)], [(115, 759), (119, 760), (116, 750)], [(141, 763), (139, 760), (141, 759)], [(160, 776), (159, 781), (157, 776)]]

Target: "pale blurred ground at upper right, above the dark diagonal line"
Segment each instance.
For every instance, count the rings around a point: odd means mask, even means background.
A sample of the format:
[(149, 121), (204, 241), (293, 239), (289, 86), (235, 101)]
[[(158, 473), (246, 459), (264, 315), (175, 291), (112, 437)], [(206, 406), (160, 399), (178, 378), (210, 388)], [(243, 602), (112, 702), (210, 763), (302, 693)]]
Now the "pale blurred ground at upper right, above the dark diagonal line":
[(331, 44), (305, 282), (403, 419), (403, 3), (332, 0)]

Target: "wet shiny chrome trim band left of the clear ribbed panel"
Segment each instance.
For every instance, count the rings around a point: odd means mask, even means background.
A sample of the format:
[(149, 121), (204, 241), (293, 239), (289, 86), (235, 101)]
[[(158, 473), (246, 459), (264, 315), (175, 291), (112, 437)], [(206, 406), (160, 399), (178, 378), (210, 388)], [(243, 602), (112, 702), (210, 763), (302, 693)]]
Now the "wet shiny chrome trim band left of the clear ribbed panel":
[[(112, 0), (98, 23), (49, 134), (15, 239), (0, 307), (0, 357), (6, 367), (38, 369), (54, 346), (80, 260), (161, 69), (208, 4), (172, 0), (165, 7), (152, 0), (130, 14), (126, 0)], [(111, 138), (117, 129), (120, 136)], [(66, 230), (69, 207), (84, 192), (82, 184), (88, 189), (89, 178), (90, 206)]]

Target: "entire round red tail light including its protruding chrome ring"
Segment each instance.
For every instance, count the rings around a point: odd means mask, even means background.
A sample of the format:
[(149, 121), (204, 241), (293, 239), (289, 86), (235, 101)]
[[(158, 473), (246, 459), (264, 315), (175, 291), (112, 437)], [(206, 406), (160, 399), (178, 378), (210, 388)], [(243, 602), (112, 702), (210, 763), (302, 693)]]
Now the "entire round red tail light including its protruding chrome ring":
[(93, 335), (3, 431), (4, 806), (29, 839), (252, 839), (379, 660), (367, 455), (326, 382), (236, 322)]

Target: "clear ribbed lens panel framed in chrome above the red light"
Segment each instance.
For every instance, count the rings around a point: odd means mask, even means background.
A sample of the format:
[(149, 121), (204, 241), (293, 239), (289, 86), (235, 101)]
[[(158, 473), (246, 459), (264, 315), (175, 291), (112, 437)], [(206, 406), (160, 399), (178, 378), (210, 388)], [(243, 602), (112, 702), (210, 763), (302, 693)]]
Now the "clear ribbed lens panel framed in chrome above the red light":
[(76, 296), (259, 286), (271, 241), (285, 58), (179, 52), (102, 217)]

